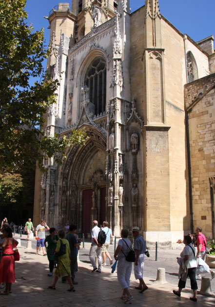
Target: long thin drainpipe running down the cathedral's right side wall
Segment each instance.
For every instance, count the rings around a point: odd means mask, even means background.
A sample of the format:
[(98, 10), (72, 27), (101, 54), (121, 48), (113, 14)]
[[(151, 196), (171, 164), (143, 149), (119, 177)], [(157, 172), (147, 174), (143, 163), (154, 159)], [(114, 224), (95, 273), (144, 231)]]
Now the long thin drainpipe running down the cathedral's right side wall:
[[(185, 65), (186, 65), (186, 77), (188, 83), (188, 71), (187, 71), (187, 50), (186, 50), (186, 34), (184, 35), (184, 53), (185, 53)], [(190, 198), (190, 215), (191, 215), (191, 231), (194, 231), (194, 212), (193, 212), (193, 198), (192, 198), (192, 177), (191, 177), (191, 157), (190, 157), (190, 136), (189, 136), (189, 121), (188, 111), (185, 106), (185, 129), (187, 139), (187, 163), (188, 163), (188, 177), (189, 177), (189, 198)]]

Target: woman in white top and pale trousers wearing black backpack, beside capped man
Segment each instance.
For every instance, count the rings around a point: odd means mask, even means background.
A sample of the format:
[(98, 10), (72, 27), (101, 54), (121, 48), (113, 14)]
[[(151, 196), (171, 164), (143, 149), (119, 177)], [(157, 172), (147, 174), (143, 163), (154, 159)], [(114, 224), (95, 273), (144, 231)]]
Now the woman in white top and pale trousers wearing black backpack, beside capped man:
[(127, 261), (125, 258), (132, 249), (132, 243), (127, 238), (129, 231), (127, 229), (121, 230), (121, 239), (118, 241), (117, 249), (114, 254), (117, 262), (117, 279), (123, 289), (121, 299), (128, 302), (133, 299), (129, 291), (130, 277), (132, 271), (133, 262)]

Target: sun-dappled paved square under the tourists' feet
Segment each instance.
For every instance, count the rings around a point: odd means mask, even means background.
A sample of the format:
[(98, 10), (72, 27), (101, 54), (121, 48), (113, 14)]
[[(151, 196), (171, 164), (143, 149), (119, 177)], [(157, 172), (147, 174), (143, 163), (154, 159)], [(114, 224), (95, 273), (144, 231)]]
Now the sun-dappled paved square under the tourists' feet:
[[(67, 284), (57, 283), (56, 290), (48, 289), (53, 277), (48, 277), (47, 257), (35, 254), (36, 240), (32, 240), (32, 250), (25, 249), (26, 240), (21, 238), (20, 261), (16, 262), (16, 283), (12, 285), (12, 293), (0, 297), (0, 307), (120, 307), (124, 306), (120, 299), (121, 289), (117, 282), (117, 274), (111, 274), (110, 266), (102, 267), (101, 274), (92, 273), (89, 262), (90, 243), (85, 243), (85, 248), (80, 249), (76, 292), (67, 292)], [(190, 282), (184, 290), (181, 298), (176, 297), (173, 289), (177, 289), (177, 270), (176, 256), (179, 249), (159, 250), (158, 261), (155, 261), (155, 251), (150, 250), (150, 258), (146, 259), (144, 268), (144, 280), (149, 289), (143, 294), (139, 293), (134, 287), (137, 285), (134, 274), (131, 276), (131, 293), (134, 299), (128, 303), (130, 306), (215, 306), (215, 297), (205, 297), (198, 295), (198, 302), (190, 301), (192, 293)], [(110, 247), (113, 257), (114, 246)], [(108, 261), (107, 261), (108, 264)], [(167, 284), (155, 283), (157, 268), (166, 269)], [(212, 289), (215, 291), (215, 280), (211, 281)], [(200, 288), (200, 282), (198, 281)]]

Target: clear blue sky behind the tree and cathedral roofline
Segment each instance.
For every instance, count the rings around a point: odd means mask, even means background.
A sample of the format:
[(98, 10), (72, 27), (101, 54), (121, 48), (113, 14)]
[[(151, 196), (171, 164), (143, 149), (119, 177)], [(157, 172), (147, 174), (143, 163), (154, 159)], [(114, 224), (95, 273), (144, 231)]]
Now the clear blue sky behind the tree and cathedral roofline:
[[(49, 23), (43, 16), (59, 2), (71, 0), (27, 0), (28, 21), (34, 24), (35, 30), (44, 28), (46, 43), (49, 42)], [(145, 0), (130, 0), (134, 12), (145, 4)], [(189, 35), (195, 41), (215, 35), (215, 0), (159, 0), (160, 12), (180, 32)]]

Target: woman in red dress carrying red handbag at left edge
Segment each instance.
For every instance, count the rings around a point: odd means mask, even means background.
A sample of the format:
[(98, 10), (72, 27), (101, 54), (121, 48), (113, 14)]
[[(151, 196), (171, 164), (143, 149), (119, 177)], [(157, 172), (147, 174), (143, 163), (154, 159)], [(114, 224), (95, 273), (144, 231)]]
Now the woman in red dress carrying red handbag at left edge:
[(13, 238), (12, 230), (9, 226), (2, 229), (5, 237), (2, 244), (2, 259), (0, 262), (0, 283), (5, 283), (5, 291), (0, 292), (1, 295), (8, 295), (11, 293), (12, 283), (15, 283), (15, 259), (14, 248), (19, 244)]

